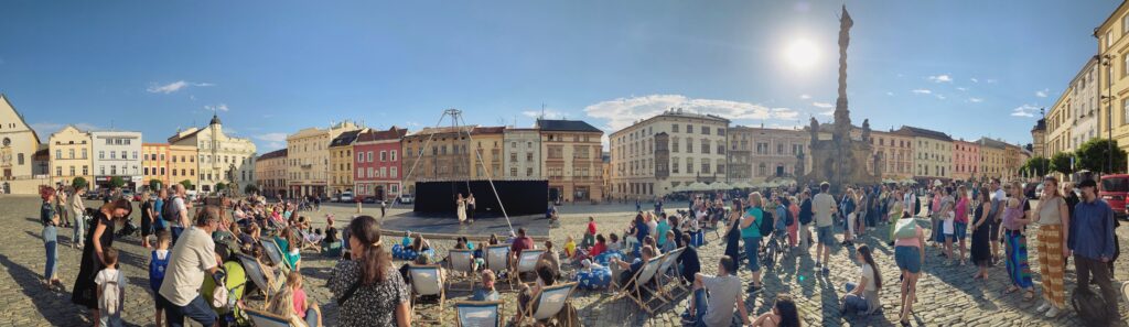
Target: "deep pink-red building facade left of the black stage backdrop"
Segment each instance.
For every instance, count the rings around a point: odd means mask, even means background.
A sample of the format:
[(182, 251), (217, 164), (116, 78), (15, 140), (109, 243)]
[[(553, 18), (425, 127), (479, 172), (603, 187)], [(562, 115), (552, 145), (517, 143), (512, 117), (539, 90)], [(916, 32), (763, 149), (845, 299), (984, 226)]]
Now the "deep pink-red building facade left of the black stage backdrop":
[(353, 191), (357, 198), (393, 201), (403, 189), (400, 140), (408, 130), (393, 126), (387, 131), (369, 131), (357, 136), (353, 144)]

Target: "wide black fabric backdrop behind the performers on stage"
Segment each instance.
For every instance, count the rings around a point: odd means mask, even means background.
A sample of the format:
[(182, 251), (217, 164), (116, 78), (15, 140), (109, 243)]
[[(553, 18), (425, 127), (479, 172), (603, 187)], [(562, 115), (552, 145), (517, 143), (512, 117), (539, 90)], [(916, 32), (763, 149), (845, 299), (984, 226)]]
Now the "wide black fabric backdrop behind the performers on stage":
[(506, 204), (509, 215), (544, 214), (549, 207), (549, 180), (495, 180), (498, 197), (490, 182), (418, 182), (415, 207), (418, 213), (455, 216), (455, 198), (474, 194), (474, 216), (501, 216), (498, 198)]

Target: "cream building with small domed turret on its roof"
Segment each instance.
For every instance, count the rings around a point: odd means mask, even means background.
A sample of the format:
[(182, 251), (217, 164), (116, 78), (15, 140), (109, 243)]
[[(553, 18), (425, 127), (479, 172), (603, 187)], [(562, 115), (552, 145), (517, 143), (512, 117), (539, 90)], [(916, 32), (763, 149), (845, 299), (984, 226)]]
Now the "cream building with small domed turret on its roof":
[(202, 129), (177, 132), (168, 138), (168, 143), (196, 148), (196, 189), (200, 192), (218, 192), (217, 186), (222, 184), (224, 188), (238, 194), (244, 186), (255, 184), (255, 143), (224, 133), (219, 116), (213, 115)]

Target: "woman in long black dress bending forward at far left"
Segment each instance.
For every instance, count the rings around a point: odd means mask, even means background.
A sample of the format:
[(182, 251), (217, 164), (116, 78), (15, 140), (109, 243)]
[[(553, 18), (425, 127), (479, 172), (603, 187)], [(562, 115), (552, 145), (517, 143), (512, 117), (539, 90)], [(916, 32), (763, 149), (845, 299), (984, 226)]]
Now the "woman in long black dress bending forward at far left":
[(129, 200), (119, 198), (103, 204), (94, 213), (94, 221), (82, 246), (82, 260), (71, 294), (71, 302), (87, 307), (94, 312), (94, 321), (98, 321), (98, 285), (94, 283), (94, 280), (98, 276), (98, 272), (106, 267), (103, 250), (114, 245), (114, 226), (125, 220), (132, 212), (133, 204)]

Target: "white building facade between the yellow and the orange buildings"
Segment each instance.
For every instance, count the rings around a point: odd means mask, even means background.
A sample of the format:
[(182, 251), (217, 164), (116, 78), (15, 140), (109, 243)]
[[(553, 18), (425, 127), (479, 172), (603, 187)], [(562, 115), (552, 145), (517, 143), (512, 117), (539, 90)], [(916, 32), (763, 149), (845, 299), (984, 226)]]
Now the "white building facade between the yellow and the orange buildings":
[(94, 182), (96, 188), (111, 188), (115, 177), (124, 182), (122, 188), (138, 189), (142, 185), (141, 133), (125, 131), (90, 132), (94, 150)]

